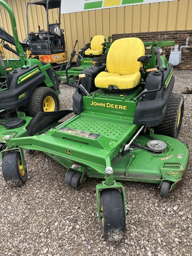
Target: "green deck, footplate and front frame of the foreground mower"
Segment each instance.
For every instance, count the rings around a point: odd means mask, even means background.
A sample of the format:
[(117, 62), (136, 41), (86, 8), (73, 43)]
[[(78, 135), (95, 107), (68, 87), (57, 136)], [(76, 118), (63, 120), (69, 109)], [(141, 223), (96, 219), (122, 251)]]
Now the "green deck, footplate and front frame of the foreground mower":
[[(91, 97), (84, 97), (81, 115), (40, 135), (27, 137), (21, 132), (9, 139), (7, 146), (43, 151), (68, 169), (82, 167), (78, 172), (86, 170), (90, 178), (104, 179), (105, 168), (112, 167), (114, 180), (156, 184), (166, 180), (176, 184), (174, 188), (187, 171), (189, 153), (184, 143), (172, 137), (153, 135), (151, 138), (140, 133), (130, 151), (122, 153), (139, 128), (133, 124), (136, 102), (132, 101), (138, 92), (136, 89), (123, 98), (120, 94), (102, 94), (98, 90)], [(166, 143), (164, 152), (145, 149), (152, 139)]]

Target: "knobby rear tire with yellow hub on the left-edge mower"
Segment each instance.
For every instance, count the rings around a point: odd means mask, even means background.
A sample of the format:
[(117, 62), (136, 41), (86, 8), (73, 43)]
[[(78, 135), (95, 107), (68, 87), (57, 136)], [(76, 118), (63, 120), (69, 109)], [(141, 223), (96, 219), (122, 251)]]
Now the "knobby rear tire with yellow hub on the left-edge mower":
[[(43, 104), (47, 97), (52, 99), (55, 104), (55, 107), (52, 107), (50, 110), (49, 105), (47, 110), (44, 110), (45, 106)], [(33, 93), (31, 94), (31, 98), (27, 103), (27, 112), (29, 116), (34, 117), (37, 112), (56, 110), (59, 110), (59, 97), (53, 89), (47, 87), (39, 87), (34, 89)]]

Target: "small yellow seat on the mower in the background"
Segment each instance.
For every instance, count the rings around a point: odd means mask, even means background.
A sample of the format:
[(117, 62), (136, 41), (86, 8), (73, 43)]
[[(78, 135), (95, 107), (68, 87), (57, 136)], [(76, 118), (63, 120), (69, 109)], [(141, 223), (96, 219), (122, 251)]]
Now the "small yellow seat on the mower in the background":
[(91, 49), (85, 50), (85, 55), (94, 55), (94, 56), (102, 55), (104, 46), (101, 44), (105, 42), (104, 39), (105, 37), (101, 35), (92, 37), (91, 46), (90, 46)]

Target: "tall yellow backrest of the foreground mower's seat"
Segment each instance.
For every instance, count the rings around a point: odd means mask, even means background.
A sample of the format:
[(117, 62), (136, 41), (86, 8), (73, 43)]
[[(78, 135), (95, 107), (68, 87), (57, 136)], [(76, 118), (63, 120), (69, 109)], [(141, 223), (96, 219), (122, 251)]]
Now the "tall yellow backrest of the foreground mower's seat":
[(136, 37), (117, 39), (111, 44), (107, 54), (107, 71), (120, 75), (136, 73), (143, 66), (137, 59), (143, 55), (145, 47), (142, 40)]

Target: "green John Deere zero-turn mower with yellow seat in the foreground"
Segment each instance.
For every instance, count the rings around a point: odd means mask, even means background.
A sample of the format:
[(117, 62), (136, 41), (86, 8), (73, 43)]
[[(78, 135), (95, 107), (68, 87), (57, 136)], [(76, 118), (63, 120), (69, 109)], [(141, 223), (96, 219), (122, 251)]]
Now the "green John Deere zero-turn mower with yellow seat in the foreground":
[[(23, 117), (26, 123), (17, 129), (1, 127), (5, 182), (15, 186), (27, 180), (24, 149), (42, 151), (67, 168), (65, 183), (74, 188), (87, 177), (101, 178), (96, 194), (102, 234), (110, 241), (123, 238), (126, 199), (120, 181), (158, 184), (160, 196), (167, 197), (187, 172), (187, 143), (176, 139), (184, 99), (172, 93), (173, 68), (158, 50), (171, 44), (118, 39), (105, 64), (97, 57), (80, 75), (74, 117), (59, 122), (71, 111), (44, 112)], [(145, 46), (151, 46), (150, 55)]]

